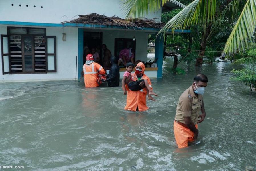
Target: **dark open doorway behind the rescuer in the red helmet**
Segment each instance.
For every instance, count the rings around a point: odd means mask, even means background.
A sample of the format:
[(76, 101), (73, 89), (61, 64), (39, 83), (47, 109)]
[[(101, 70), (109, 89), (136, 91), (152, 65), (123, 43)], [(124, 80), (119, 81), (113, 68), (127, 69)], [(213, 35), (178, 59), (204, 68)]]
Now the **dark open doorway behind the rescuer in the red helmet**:
[[(86, 55), (91, 52), (92, 48), (99, 53), (100, 64), (102, 63), (102, 32), (84, 32), (84, 58), (83, 63), (86, 62)], [(102, 65), (102, 64), (101, 64)]]

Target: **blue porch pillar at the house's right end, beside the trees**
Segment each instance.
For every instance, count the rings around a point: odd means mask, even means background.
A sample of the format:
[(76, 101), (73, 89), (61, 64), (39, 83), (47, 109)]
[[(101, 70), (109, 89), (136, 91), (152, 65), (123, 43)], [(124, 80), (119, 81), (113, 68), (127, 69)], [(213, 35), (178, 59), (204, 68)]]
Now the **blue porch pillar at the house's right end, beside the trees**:
[(156, 37), (155, 42), (155, 59), (157, 59), (157, 78), (162, 78), (163, 74), (163, 59), (164, 59), (164, 37), (162, 34)]

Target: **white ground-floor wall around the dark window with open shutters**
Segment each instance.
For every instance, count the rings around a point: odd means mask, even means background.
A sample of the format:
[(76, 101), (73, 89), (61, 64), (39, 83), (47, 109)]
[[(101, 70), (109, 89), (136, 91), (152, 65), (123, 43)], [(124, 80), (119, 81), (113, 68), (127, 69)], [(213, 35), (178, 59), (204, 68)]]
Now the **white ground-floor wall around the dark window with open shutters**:
[[(9, 26), (9, 25), (8, 25)], [(75, 79), (76, 56), (78, 55), (78, 28), (43, 27), (47, 36), (56, 36), (57, 72), (47, 74), (5, 74), (0, 69), (0, 82), (17, 80), (69, 80)], [(66, 41), (62, 41), (62, 33)], [(0, 25), (0, 34), (7, 34), (7, 25)], [(1, 49), (0, 49), (1, 52)], [(2, 67), (2, 61), (0, 60)]]

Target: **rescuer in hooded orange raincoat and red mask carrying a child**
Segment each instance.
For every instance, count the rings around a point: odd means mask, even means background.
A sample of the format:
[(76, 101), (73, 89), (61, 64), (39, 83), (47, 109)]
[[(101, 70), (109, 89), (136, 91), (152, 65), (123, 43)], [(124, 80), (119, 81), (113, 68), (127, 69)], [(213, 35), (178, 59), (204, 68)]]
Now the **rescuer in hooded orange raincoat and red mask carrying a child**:
[[(135, 73), (131, 74), (133, 81), (137, 81), (137, 80), (141, 80), (141, 79), (147, 80), (147, 82), (149, 83), (149, 87), (152, 90), (151, 81), (150, 81), (149, 77), (144, 74), (145, 65), (142, 62), (139, 62), (135, 69), (139, 69), (139, 70), (141, 70), (141, 72), (138, 72), (136, 70)], [(141, 82), (141, 83), (143, 84), (143, 82)], [(141, 86), (143, 86), (143, 85), (141, 85)], [(127, 84), (125, 85), (125, 87), (126, 87), (126, 91), (127, 91), (126, 106), (124, 108), (125, 110), (145, 111), (145, 110), (149, 109), (149, 107), (147, 107), (147, 105), (146, 105), (146, 96), (147, 96), (146, 88), (143, 88), (140, 91), (131, 91), (131, 90), (129, 90)], [(153, 99), (153, 97), (149, 96), (149, 100), (155, 100), (155, 99)]]

